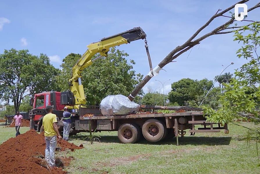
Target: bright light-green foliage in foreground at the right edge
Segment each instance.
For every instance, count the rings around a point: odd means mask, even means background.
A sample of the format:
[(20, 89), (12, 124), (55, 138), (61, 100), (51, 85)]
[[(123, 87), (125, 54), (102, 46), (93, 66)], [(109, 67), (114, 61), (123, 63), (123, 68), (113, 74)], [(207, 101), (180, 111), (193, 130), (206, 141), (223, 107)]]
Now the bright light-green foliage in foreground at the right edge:
[(225, 93), (220, 97), (222, 107), (219, 110), (204, 108), (209, 114), (209, 121), (232, 122), (235, 118), (252, 119), (260, 121), (260, 23), (244, 26), (242, 32), (235, 32), (234, 41), (243, 43), (236, 53), (238, 58), (248, 60), (241, 68), (236, 70), (235, 78), (229, 84), (224, 84)]

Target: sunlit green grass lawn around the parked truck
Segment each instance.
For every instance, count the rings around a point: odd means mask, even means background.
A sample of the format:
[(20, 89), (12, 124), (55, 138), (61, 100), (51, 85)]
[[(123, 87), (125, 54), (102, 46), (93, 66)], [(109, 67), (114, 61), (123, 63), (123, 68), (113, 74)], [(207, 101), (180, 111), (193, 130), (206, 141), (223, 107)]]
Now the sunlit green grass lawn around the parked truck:
[[(251, 123), (241, 123), (252, 127)], [(0, 124), (1, 125), (1, 124)], [(28, 130), (28, 129), (27, 129)], [(27, 131), (25, 128), (21, 132)], [(15, 137), (14, 128), (0, 127), (1, 143)], [(72, 174), (83, 173), (260, 173), (256, 144), (248, 144), (244, 136), (247, 129), (229, 125), (229, 134), (196, 133), (159, 143), (145, 140), (137, 144), (121, 144), (117, 132), (101, 132), (101, 143), (92, 145), (82, 141), (85, 135), (70, 138), (71, 143), (83, 144), (74, 152), (61, 152), (59, 156), (73, 156), (75, 160), (65, 169)]]

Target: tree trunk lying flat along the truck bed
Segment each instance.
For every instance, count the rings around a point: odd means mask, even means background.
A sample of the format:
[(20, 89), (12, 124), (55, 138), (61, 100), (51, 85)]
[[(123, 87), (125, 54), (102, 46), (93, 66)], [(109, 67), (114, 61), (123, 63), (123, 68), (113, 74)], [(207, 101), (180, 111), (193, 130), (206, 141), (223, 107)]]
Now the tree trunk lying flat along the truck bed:
[(141, 105), (142, 109), (162, 109), (162, 110), (185, 110), (185, 111), (202, 111), (202, 108), (193, 108), (188, 106), (152, 106), (152, 105)]

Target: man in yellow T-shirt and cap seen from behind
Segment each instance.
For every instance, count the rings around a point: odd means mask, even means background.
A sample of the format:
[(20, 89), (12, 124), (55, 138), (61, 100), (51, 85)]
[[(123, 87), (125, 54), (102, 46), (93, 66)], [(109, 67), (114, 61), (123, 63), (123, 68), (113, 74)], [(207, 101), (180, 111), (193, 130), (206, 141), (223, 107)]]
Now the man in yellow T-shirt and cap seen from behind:
[(45, 148), (45, 160), (51, 167), (55, 167), (55, 149), (57, 145), (57, 137), (59, 140), (62, 139), (60, 136), (58, 127), (56, 125), (57, 116), (53, 114), (54, 106), (47, 105), (47, 114), (42, 119), (42, 127), (44, 130), (46, 148)]

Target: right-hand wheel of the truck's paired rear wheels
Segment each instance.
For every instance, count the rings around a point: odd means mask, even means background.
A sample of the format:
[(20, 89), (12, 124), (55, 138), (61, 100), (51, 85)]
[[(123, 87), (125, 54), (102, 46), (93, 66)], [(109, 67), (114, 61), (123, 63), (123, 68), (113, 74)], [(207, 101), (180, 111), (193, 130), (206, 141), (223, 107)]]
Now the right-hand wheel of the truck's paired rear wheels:
[(142, 126), (144, 138), (149, 142), (158, 142), (166, 136), (166, 126), (157, 119), (148, 119)]

